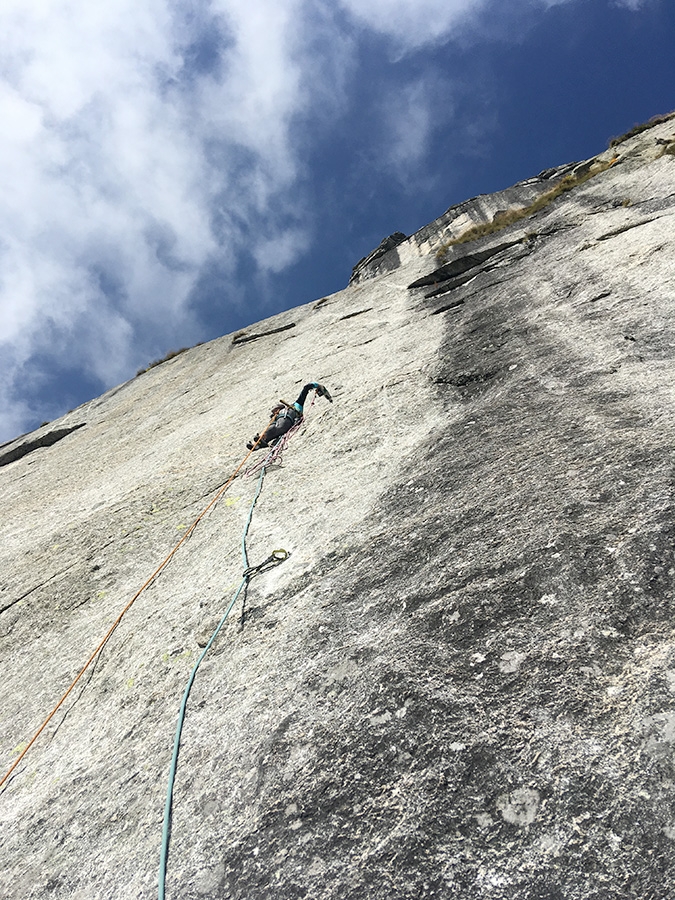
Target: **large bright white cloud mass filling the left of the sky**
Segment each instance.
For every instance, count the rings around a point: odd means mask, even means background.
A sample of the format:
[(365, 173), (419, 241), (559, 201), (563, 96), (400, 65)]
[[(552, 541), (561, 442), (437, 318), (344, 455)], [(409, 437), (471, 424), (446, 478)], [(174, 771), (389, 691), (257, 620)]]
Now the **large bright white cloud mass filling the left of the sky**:
[[(140, 347), (194, 329), (203, 267), (233, 267), (261, 221), (264, 268), (304, 250), (295, 224), (269, 216), (292, 209), (291, 123), (312, 97), (302, 8), (4, 0), (3, 383), (52, 353), (108, 385)], [(27, 406), (3, 400), (9, 428)]]

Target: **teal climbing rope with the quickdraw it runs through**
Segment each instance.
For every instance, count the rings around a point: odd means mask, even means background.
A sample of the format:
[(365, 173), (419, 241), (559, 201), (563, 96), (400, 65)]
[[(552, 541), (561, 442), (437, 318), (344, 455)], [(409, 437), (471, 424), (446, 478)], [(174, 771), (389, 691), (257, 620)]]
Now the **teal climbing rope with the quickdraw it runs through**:
[(185, 692), (183, 693), (183, 700), (180, 705), (180, 710), (178, 712), (178, 724), (176, 725), (176, 734), (173, 741), (173, 755), (171, 757), (171, 765), (169, 767), (169, 784), (166, 791), (166, 802), (164, 804), (164, 825), (162, 828), (162, 847), (159, 858), (159, 883), (158, 883), (158, 900), (164, 900), (164, 891), (165, 891), (165, 881), (166, 881), (166, 862), (169, 853), (169, 840), (171, 837), (171, 809), (173, 806), (173, 786), (176, 780), (176, 768), (178, 765), (178, 752), (180, 750), (180, 738), (181, 733), (183, 731), (183, 722), (185, 721), (185, 710), (187, 707), (188, 697), (190, 696), (190, 691), (192, 689), (192, 684), (195, 680), (195, 675), (197, 674), (197, 669), (200, 666), (201, 661), (204, 659), (206, 654), (209, 652), (211, 645), (218, 637), (218, 633), (220, 629), (225, 624), (227, 617), (230, 615), (235, 603), (239, 599), (241, 592), (247, 587), (251, 578), (254, 575), (258, 575), (261, 572), (268, 571), (274, 566), (279, 565), (284, 562), (284, 560), (288, 559), (288, 552), (286, 550), (273, 550), (272, 553), (267, 557), (267, 559), (263, 560), (263, 562), (259, 563), (257, 566), (250, 566), (248, 562), (248, 553), (246, 551), (246, 537), (248, 535), (248, 530), (251, 526), (251, 520), (253, 518), (253, 510), (255, 509), (255, 505), (258, 502), (258, 497), (260, 496), (260, 492), (262, 491), (263, 480), (265, 478), (265, 467), (263, 466), (260, 470), (260, 478), (258, 479), (258, 486), (256, 488), (255, 495), (253, 500), (251, 501), (251, 507), (248, 512), (248, 518), (246, 519), (246, 525), (244, 526), (244, 533), (241, 538), (241, 555), (242, 555), (242, 564), (243, 564), (243, 574), (241, 577), (241, 582), (239, 583), (239, 587), (234, 593), (234, 596), (230, 600), (230, 603), (225, 610), (220, 622), (216, 626), (215, 631), (211, 635), (209, 642), (206, 647), (204, 647), (201, 652), (199, 659), (194, 665), (192, 672), (190, 673), (190, 677), (188, 679), (187, 686), (185, 688)]

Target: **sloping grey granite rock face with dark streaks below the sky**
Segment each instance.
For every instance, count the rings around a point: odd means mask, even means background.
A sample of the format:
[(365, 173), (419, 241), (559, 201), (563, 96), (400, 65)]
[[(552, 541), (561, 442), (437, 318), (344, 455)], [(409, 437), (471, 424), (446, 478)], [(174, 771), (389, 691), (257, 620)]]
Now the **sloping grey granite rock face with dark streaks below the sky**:
[[(468, 201), (385, 274), (0, 448), (3, 770), (316, 379), (335, 402), (249, 532), (252, 564), (289, 557), (187, 705), (167, 897), (674, 896), (674, 132), (438, 259), (459, 216), (569, 169)], [(255, 491), (236, 479), (5, 785), (3, 896), (156, 895), (178, 707)]]

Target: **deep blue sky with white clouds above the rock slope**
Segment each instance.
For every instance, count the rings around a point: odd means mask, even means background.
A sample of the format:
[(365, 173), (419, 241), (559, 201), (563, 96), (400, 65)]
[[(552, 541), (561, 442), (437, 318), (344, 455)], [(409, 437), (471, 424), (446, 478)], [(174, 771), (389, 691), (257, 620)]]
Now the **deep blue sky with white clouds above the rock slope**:
[(2, 0), (0, 33), (0, 442), (675, 109), (673, 0)]

